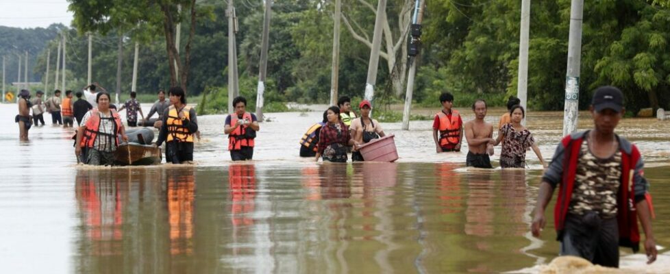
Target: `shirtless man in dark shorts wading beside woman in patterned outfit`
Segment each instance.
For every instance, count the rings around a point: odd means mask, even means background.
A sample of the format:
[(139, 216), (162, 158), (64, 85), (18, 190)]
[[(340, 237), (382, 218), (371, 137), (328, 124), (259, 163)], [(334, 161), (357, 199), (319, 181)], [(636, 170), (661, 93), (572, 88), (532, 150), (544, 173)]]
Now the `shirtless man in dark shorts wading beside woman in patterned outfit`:
[(493, 125), (486, 123), (486, 101), (478, 99), (472, 104), (475, 119), (465, 123), (465, 138), (468, 140), (467, 166), (493, 169), (488, 155), (493, 152)]

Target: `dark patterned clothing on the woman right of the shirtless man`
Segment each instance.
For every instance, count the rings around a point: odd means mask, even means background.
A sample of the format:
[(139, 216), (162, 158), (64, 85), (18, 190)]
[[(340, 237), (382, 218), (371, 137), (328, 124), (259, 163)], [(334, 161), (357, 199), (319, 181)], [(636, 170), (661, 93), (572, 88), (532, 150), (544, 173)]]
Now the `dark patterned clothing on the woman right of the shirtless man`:
[(511, 123), (504, 125), (501, 132), (505, 134), (500, 151), (500, 166), (505, 168), (525, 168), (525, 151), (535, 144), (535, 138), (528, 129), (517, 132)]

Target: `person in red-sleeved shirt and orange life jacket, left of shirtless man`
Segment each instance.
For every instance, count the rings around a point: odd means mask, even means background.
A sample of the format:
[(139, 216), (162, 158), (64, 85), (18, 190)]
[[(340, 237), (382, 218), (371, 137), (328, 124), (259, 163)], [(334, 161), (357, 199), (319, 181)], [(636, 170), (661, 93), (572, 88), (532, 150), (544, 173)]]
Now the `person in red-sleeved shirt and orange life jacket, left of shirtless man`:
[[(463, 140), (463, 120), (454, 105), (454, 95), (443, 92), (440, 95), (442, 110), (435, 114), (433, 121), (433, 140), (437, 153), (460, 151)], [(438, 135), (439, 134), (439, 135)]]

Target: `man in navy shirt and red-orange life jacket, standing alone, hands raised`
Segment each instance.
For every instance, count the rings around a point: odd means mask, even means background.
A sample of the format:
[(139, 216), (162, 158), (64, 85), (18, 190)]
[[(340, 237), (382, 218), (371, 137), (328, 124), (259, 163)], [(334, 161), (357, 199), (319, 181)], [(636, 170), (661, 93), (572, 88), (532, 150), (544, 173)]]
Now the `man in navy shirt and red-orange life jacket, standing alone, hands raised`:
[(228, 134), (228, 151), (233, 161), (253, 158), (253, 139), (260, 130), (256, 115), (247, 112), (247, 99), (238, 96), (233, 99), (235, 112), (225, 118), (223, 133)]

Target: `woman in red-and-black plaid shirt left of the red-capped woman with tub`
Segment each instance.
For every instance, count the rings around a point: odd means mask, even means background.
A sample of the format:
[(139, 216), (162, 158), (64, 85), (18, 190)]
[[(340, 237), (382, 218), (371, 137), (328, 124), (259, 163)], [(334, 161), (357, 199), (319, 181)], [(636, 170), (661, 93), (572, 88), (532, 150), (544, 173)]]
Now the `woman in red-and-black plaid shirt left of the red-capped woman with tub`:
[(332, 106), (327, 110), (327, 119), (319, 136), (319, 146), (315, 162), (323, 155), (323, 161), (347, 162), (347, 146), (358, 145), (351, 139), (349, 127), (340, 121), (340, 108)]

